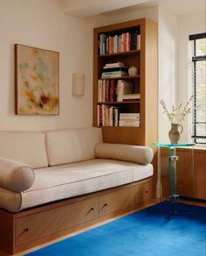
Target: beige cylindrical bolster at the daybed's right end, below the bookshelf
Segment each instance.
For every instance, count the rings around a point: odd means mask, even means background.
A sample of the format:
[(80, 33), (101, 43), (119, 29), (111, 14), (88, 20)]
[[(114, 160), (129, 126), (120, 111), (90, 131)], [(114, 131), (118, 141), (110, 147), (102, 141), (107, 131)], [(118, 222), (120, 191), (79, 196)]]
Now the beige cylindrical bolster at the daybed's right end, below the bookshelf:
[(153, 150), (148, 146), (101, 143), (95, 147), (97, 158), (125, 160), (147, 165), (153, 160)]

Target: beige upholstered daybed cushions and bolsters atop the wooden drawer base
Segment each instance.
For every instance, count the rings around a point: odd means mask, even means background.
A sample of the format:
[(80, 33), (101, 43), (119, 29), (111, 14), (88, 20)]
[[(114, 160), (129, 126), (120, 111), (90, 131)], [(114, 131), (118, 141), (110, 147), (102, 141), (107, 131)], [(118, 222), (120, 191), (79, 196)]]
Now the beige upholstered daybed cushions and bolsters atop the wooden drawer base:
[(0, 132), (0, 208), (18, 212), (153, 175), (148, 146), (106, 144), (99, 128)]

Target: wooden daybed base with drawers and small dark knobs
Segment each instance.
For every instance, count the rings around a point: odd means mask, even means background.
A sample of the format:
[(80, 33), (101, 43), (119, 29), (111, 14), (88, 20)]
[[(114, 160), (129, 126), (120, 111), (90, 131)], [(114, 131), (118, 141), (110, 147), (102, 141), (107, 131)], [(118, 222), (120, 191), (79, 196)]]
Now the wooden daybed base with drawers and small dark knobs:
[(133, 210), (153, 197), (152, 178), (10, 213), (0, 210), (0, 255), (23, 252)]

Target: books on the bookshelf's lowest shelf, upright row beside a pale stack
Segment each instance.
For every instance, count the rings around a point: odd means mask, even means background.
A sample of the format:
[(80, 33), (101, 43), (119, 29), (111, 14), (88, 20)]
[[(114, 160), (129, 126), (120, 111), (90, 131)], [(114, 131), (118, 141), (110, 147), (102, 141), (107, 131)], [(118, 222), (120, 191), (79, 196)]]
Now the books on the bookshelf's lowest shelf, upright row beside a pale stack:
[(140, 113), (120, 113), (120, 108), (98, 105), (98, 126), (140, 126)]

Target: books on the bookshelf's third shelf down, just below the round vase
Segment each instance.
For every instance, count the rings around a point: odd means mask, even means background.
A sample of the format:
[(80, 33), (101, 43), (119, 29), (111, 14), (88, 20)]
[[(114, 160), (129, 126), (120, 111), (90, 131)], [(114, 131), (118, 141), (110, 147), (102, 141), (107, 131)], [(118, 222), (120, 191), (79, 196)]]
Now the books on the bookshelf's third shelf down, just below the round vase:
[(133, 93), (133, 83), (127, 80), (98, 80), (98, 102), (124, 102), (140, 99), (140, 94)]

